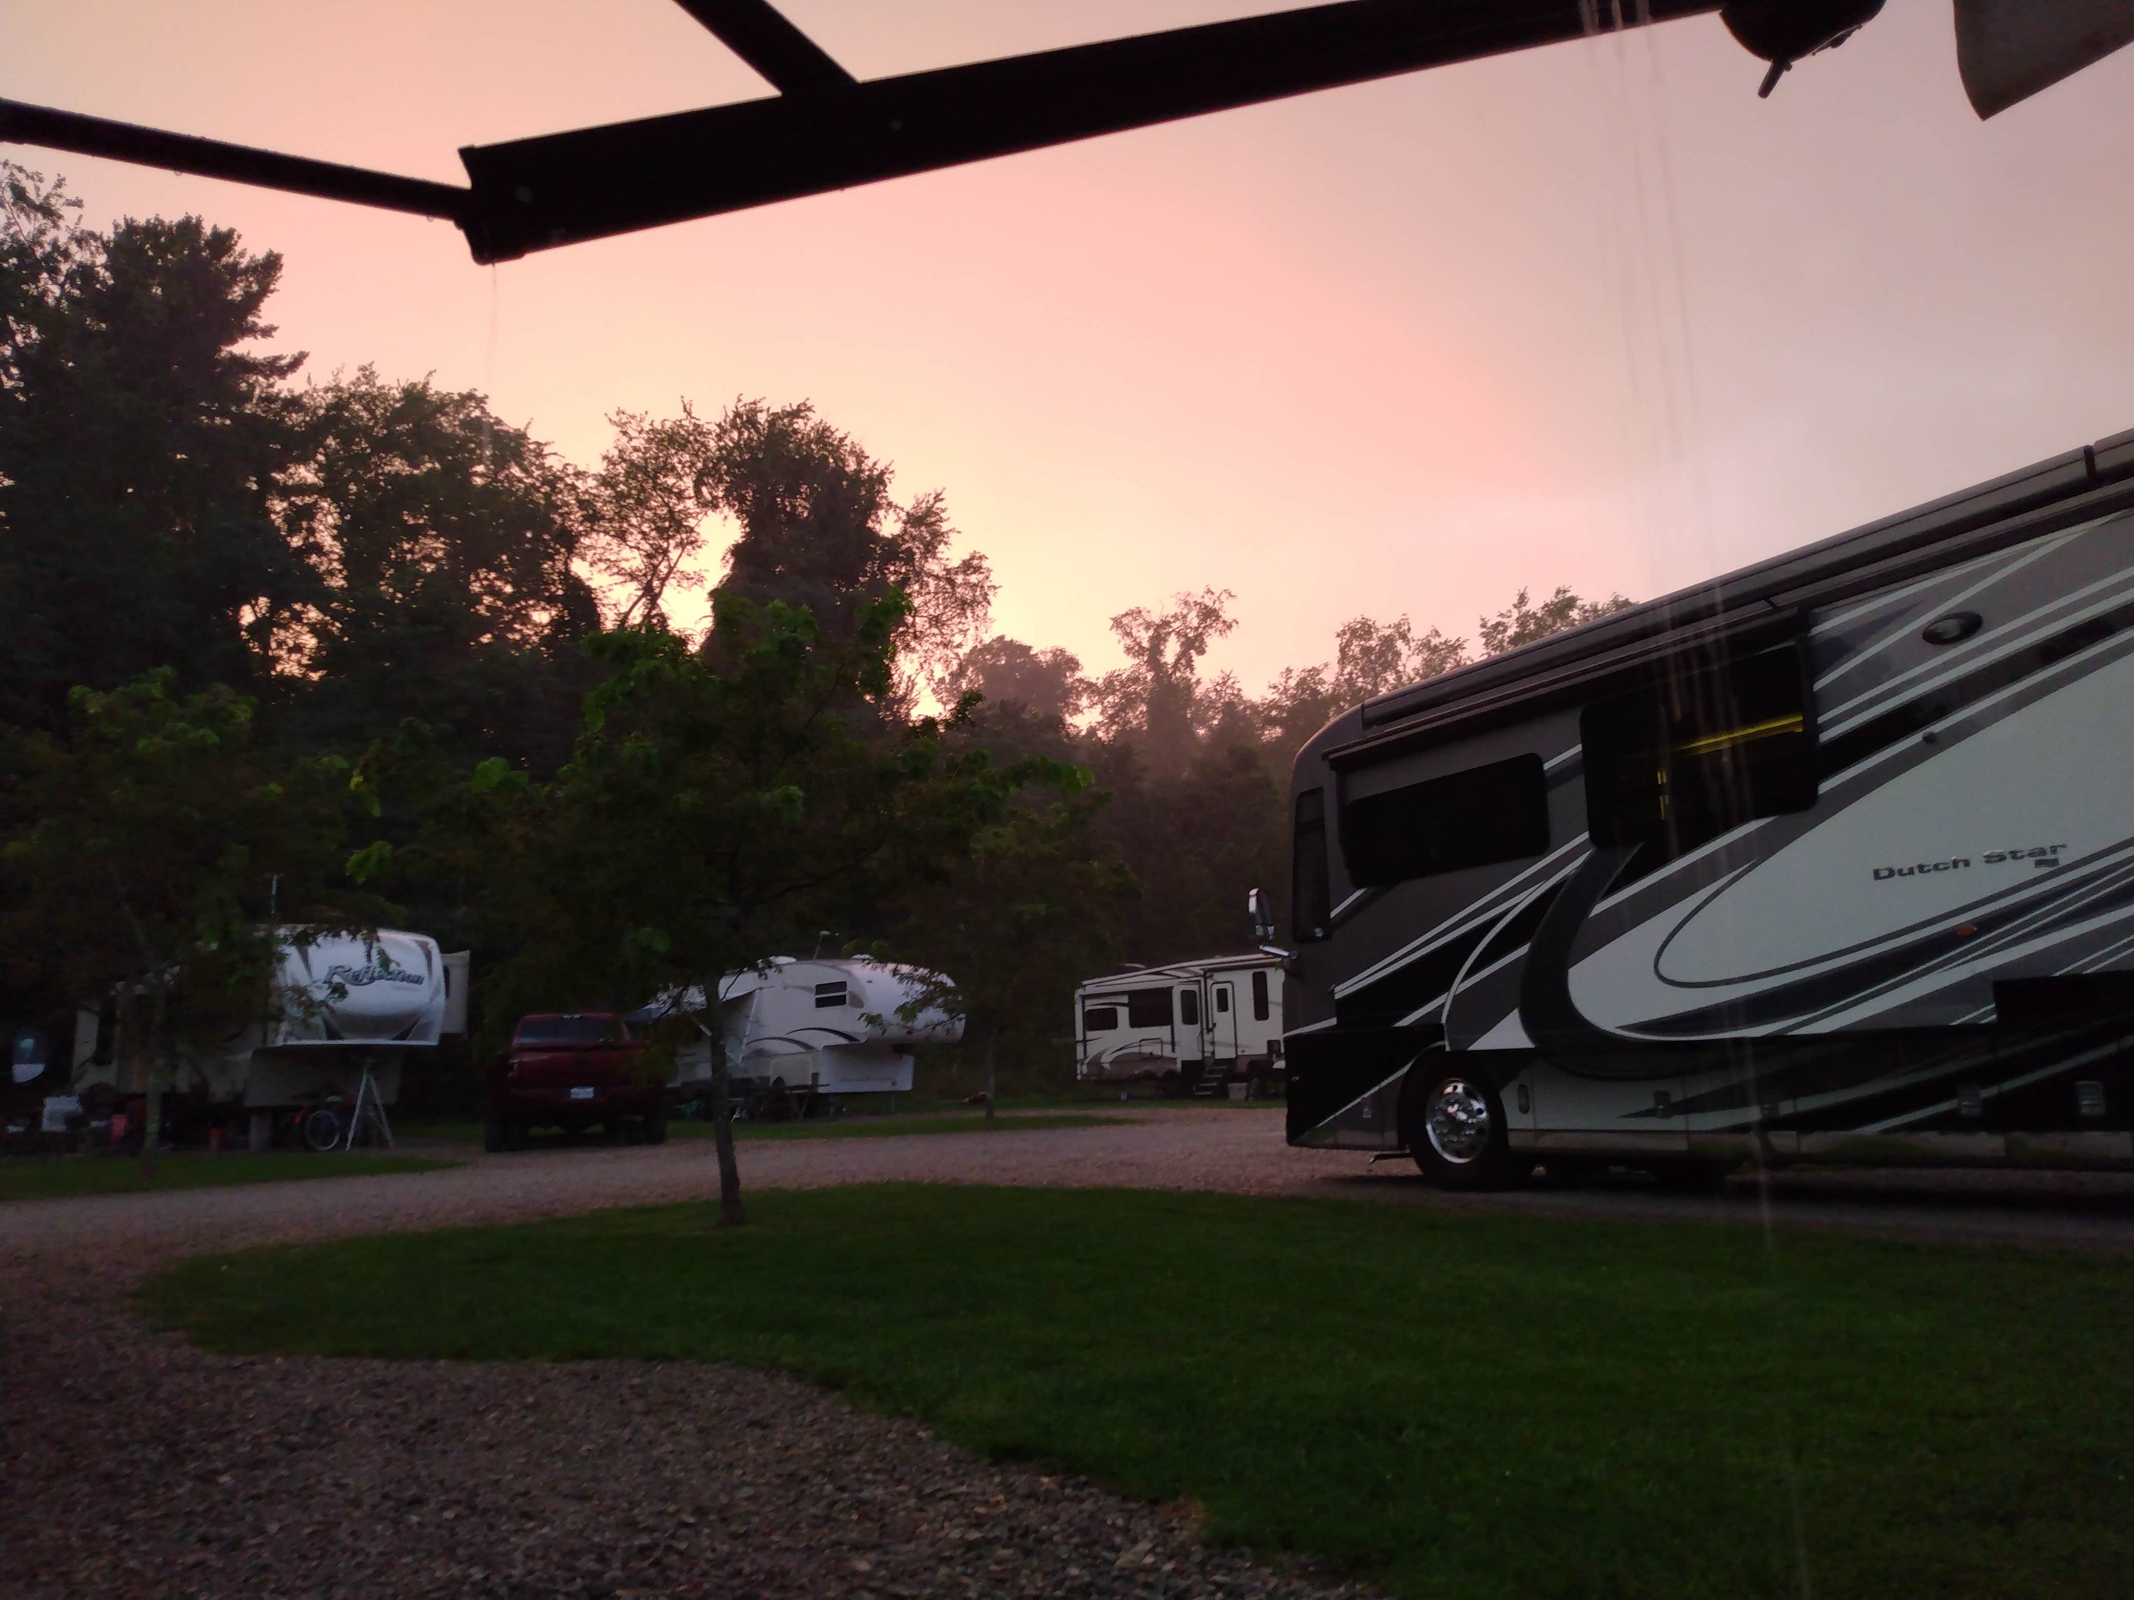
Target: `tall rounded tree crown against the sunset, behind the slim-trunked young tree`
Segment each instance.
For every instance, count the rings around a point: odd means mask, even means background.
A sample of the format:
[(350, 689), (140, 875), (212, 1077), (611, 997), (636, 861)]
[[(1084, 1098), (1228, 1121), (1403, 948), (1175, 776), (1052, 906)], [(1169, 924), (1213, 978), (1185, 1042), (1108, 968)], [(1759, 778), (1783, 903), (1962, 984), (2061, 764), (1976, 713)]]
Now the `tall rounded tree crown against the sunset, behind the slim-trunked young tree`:
[(984, 555), (950, 557), (956, 529), (939, 491), (898, 506), (890, 480), (886, 463), (807, 401), (734, 401), (704, 471), (740, 523), (719, 585), (728, 593), (805, 608), (830, 642), (849, 640), (890, 591), (905, 595), (892, 700), (909, 708), (984, 636), (994, 582)]

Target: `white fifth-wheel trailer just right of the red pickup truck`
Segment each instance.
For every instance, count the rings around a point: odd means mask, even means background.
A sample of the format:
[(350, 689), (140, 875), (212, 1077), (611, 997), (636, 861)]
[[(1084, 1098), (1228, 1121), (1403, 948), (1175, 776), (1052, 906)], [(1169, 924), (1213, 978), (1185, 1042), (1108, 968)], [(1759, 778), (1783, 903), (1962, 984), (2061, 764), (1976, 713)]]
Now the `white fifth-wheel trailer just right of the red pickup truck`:
[(728, 973), (715, 1015), (704, 992), (691, 988), (632, 1011), (630, 1022), (674, 1011), (696, 1020), (698, 1039), (674, 1060), (683, 1097), (708, 1090), (711, 1052), (723, 1050), (732, 1094), (747, 1116), (807, 1116), (822, 1097), (911, 1090), (913, 1052), (962, 1037), (962, 1020), (928, 1003), (937, 981), (915, 966), (864, 956), (779, 956), (764, 969)]

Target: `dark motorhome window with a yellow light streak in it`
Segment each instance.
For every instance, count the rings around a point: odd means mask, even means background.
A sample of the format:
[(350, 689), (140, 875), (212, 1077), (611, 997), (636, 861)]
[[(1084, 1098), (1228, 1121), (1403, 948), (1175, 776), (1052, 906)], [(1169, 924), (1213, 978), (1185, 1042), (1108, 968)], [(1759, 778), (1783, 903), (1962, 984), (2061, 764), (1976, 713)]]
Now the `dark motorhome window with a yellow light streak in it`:
[(1797, 644), (1679, 668), (1579, 715), (1586, 830), (1596, 845), (1679, 855), (1754, 817), (1816, 804), (1807, 674)]

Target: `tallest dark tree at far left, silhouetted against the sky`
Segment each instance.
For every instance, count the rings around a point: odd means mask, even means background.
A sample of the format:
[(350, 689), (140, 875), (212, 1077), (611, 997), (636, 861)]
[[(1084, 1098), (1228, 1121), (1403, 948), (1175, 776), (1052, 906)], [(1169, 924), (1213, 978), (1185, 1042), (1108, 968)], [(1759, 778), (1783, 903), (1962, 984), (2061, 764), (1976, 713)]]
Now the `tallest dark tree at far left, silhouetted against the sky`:
[(198, 218), (96, 235), (70, 211), (0, 173), (0, 719), (47, 732), (73, 685), (156, 666), (258, 685), (314, 587), (271, 512), (303, 356), (250, 348), (282, 258)]

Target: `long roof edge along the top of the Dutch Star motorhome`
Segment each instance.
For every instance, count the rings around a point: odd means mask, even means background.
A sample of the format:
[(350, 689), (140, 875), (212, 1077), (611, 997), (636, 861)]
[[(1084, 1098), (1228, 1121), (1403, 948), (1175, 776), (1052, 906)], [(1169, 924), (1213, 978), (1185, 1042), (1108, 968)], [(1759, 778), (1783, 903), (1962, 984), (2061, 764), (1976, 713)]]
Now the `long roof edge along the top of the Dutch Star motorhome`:
[(1361, 723), (1368, 730), (1379, 730), (1404, 723), (1447, 702), (1470, 704), (1477, 693), (1487, 693), (1498, 685), (1524, 683), (1549, 668), (1568, 668), (1586, 657), (1626, 651), (1647, 638), (1679, 636), (1686, 625), (1705, 623), (1729, 610), (1780, 602), (1820, 574), (1869, 565), (1955, 540), (2023, 512), (2061, 506), (2121, 478), (2134, 478), (2134, 431), (2034, 461), (1955, 495), (1912, 506), (1554, 638), (1366, 700)]

